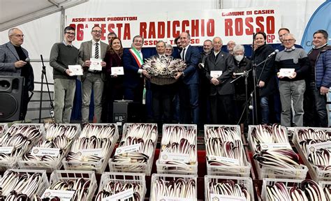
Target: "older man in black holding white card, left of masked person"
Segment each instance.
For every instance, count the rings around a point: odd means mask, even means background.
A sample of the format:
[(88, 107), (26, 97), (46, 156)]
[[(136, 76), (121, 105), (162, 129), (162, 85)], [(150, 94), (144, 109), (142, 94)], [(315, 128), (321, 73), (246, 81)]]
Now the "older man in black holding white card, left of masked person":
[(205, 60), (205, 75), (209, 80), (210, 105), (212, 107), (212, 124), (233, 124), (233, 94), (235, 87), (231, 84), (235, 63), (233, 56), (221, 51), (221, 38), (213, 40), (214, 51)]

